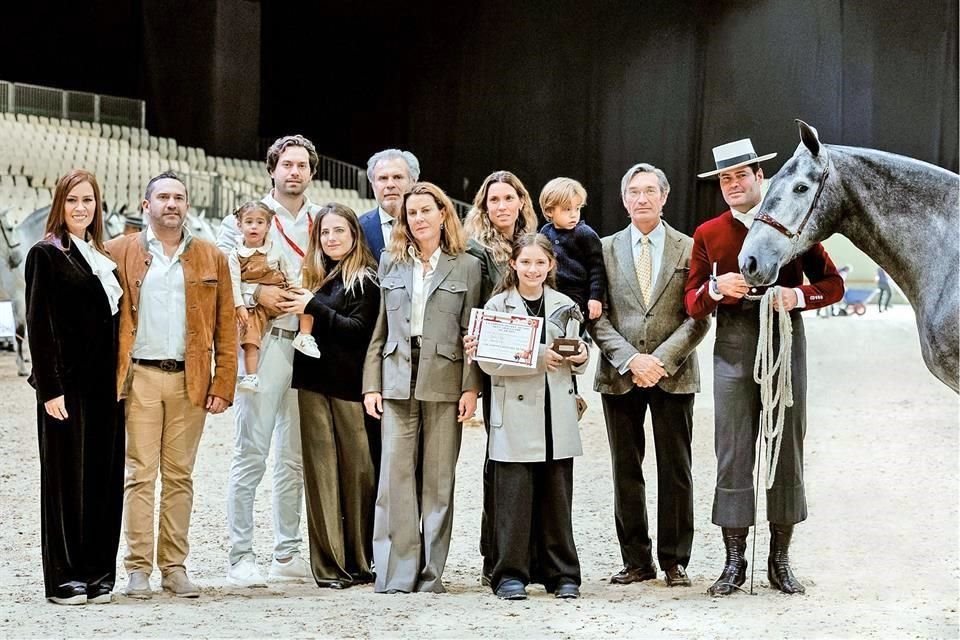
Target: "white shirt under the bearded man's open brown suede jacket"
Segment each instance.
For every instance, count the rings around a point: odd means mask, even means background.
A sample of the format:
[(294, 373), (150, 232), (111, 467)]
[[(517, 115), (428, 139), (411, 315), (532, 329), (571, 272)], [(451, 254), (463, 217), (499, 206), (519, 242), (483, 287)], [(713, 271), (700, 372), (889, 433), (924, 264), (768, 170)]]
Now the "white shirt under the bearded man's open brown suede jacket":
[(144, 233), (151, 260), (140, 286), (133, 357), (182, 361), (186, 352), (187, 300), (180, 256), (187, 247), (190, 231), (183, 228), (180, 245), (169, 258), (153, 227), (147, 225)]

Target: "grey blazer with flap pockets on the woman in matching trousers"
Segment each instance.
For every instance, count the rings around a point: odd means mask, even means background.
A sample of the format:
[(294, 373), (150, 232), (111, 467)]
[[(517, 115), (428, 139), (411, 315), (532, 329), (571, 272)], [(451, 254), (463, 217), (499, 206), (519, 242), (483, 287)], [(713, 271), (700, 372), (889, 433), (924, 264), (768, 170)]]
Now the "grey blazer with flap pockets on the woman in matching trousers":
[[(410, 398), (410, 315), (413, 298), (412, 260), (380, 259), (380, 314), (363, 365), (363, 392), (379, 392), (388, 400)], [(480, 391), (480, 369), (464, 364), (463, 336), (470, 311), (480, 301), (480, 263), (462, 253), (440, 254), (430, 280), (423, 313), (423, 344), (414, 398), (456, 402), (464, 391)]]

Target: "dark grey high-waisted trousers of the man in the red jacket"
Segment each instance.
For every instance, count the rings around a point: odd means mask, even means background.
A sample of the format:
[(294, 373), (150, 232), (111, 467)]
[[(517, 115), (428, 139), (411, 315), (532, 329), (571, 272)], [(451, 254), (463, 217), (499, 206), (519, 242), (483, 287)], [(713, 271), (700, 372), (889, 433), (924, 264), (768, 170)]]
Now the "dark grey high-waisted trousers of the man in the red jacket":
[[(803, 436), (807, 423), (807, 358), (803, 320), (793, 322), (793, 407), (784, 418), (780, 461), (773, 487), (767, 490), (767, 519), (795, 524), (807, 518), (803, 489)], [(760, 387), (753, 381), (753, 364), (760, 333), (759, 306), (721, 305), (717, 310), (717, 339), (713, 350), (713, 399), (717, 488), (713, 523), (721, 527), (754, 524), (754, 465), (760, 432)], [(766, 446), (766, 444), (764, 444)], [(761, 469), (764, 483), (766, 469)]]

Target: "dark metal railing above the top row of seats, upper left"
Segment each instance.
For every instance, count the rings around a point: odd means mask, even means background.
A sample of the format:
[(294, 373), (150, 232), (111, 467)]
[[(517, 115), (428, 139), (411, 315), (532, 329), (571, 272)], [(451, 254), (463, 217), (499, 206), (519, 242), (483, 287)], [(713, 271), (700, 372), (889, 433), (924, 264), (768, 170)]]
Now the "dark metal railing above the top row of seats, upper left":
[(146, 128), (143, 100), (0, 80), (0, 112)]

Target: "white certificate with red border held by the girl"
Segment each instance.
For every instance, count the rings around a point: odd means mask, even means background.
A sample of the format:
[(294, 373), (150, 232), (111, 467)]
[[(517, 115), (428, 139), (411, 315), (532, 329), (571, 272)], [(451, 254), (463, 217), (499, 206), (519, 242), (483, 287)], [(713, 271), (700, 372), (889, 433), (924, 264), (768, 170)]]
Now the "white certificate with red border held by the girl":
[(474, 309), (470, 335), (477, 337), (474, 360), (536, 369), (543, 318)]

